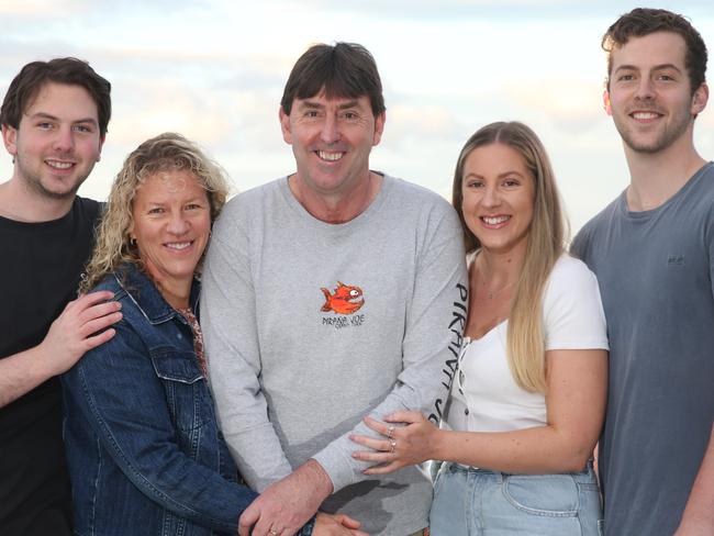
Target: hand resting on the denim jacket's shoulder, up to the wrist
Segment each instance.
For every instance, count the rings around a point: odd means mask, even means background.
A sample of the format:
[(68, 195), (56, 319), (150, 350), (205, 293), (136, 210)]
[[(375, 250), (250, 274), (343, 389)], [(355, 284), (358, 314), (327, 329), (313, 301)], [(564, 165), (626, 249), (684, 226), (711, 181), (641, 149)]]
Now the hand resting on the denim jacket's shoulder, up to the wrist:
[(86, 351), (114, 336), (114, 330), (107, 328), (122, 320), (122, 305), (109, 301), (112, 298), (114, 294), (104, 290), (67, 303), (37, 348), (48, 378), (66, 372)]

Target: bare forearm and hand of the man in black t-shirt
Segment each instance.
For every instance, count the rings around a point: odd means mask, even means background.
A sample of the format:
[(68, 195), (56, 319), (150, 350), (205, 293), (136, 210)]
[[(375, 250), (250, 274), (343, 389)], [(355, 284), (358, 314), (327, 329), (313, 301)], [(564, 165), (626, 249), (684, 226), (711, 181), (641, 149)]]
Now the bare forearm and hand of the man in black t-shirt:
[(119, 302), (108, 301), (113, 297), (92, 292), (69, 302), (42, 343), (0, 359), (0, 407), (67, 371), (86, 351), (112, 338), (114, 330), (108, 327), (122, 317)]

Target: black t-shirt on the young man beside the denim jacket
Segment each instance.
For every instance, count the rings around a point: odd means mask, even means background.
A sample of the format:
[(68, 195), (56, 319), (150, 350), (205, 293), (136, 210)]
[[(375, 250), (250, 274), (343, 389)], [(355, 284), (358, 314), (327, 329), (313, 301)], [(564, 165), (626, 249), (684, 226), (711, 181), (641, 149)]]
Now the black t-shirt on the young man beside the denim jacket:
[[(40, 344), (77, 297), (100, 212), (76, 198), (59, 220), (0, 217), (0, 359)], [(0, 534), (70, 535), (62, 393), (52, 378), (0, 407)]]

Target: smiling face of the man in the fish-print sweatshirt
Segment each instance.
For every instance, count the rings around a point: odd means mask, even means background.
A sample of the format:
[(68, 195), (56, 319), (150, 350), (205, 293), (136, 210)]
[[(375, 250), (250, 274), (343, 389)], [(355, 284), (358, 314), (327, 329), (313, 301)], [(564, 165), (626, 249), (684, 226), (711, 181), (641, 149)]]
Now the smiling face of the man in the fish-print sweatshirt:
[(298, 180), (320, 196), (348, 194), (369, 180), (369, 153), (381, 138), (384, 114), (372, 115), (369, 99), (327, 99), (324, 91), (280, 109), (282, 136), (292, 145)]

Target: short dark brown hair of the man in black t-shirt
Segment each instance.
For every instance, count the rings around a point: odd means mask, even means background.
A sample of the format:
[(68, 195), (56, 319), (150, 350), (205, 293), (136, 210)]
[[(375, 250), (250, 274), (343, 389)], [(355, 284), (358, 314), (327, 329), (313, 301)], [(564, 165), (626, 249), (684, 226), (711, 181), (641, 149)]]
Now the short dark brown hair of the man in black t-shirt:
[(87, 62), (66, 57), (25, 65), (10, 82), (0, 108), (0, 124), (20, 127), (20, 119), (42, 87), (47, 82), (80, 86), (97, 104), (99, 133), (104, 136), (112, 115), (112, 85), (92, 69)]

